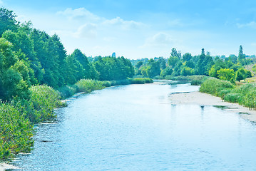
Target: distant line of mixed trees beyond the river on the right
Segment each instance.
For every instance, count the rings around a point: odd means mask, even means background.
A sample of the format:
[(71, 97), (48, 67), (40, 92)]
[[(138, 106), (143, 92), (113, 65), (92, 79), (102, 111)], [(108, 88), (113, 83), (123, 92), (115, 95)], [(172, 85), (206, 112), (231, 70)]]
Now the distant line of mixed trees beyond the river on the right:
[(154, 59), (132, 60), (135, 66), (135, 76), (149, 78), (174, 78), (177, 76), (205, 75), (222, 80), (240, 81), (252, 77), (250, 71), (245, 70), (243, 66), (253, 63), (252, 58), (245, 58), (242, 52), (242, 46), (239, 48), (238, 56), (210, 56), (210, 53), (202, 53), (198, 56), (192, 56), (191, 53), (185, 53), (183, 56), (180, 51), (173, 48), (170, 57)]

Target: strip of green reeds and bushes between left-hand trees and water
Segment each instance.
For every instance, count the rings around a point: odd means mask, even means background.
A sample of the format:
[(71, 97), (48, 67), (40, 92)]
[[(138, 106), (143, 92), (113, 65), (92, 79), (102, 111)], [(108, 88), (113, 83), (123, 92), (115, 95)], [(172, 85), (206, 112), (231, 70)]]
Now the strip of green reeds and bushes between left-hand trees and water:
[(82, 79), (73, 86), (59, 90), (41, 85), (29, 88), (28, 98), (16, 97), (10, 102), (0, 102), (0, 160), (10, 160), (19, 152), (30, 152), (34, 145), (34, 123), (56, 118), (54, 108), (63, 106), (61, 98), (78, 92), (90, 93), (110, 86), (153, 83), (150, 78), (130, 78), (122, 81), (94, 81)]

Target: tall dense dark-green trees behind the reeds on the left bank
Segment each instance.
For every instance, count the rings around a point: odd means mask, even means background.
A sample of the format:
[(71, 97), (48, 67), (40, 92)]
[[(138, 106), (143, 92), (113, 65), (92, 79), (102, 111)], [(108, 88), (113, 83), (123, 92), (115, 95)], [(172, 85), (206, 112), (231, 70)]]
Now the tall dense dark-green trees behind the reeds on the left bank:
[(97, 56), (89, 60), (76, 49), (67, 54), (60, 38), (21, 24), (16, 14), (0, 9), (0, 99), (27, 98), (29, 87), (73, 85), (83, 78), (100, 81), (133, 77), (134, 68), (123, 57)]

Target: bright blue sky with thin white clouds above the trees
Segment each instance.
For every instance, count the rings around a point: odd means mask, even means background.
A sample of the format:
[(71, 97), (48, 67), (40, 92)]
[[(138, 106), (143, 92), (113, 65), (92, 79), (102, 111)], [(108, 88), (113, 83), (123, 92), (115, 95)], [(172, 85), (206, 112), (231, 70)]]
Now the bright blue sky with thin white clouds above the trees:
[(198, 55), (256, 54), (256, 1), (0, 0), (19, 21), (57, 33), (68, 53), (154, 58), (171, 48)]

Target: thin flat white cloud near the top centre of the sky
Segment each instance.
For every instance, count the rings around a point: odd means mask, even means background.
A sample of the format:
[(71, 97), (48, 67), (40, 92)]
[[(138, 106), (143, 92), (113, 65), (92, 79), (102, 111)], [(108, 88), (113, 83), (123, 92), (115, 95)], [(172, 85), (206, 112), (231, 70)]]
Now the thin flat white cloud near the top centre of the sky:
[(121, 28), (123, 29), (138, 29), (138, 28), (142, 28), (143, 26), (145, 26), (145, 24), (140, 23), (140, 22), (136, 22), (136, 21), (125, 21), (123, 19), (121, 19), (120, 17), (116, 17), (115, 19), (111, 19), (108, 20), (106, 19), (105, 21), (103, 21), (103, 25), (106, 26), (121, 26)]

